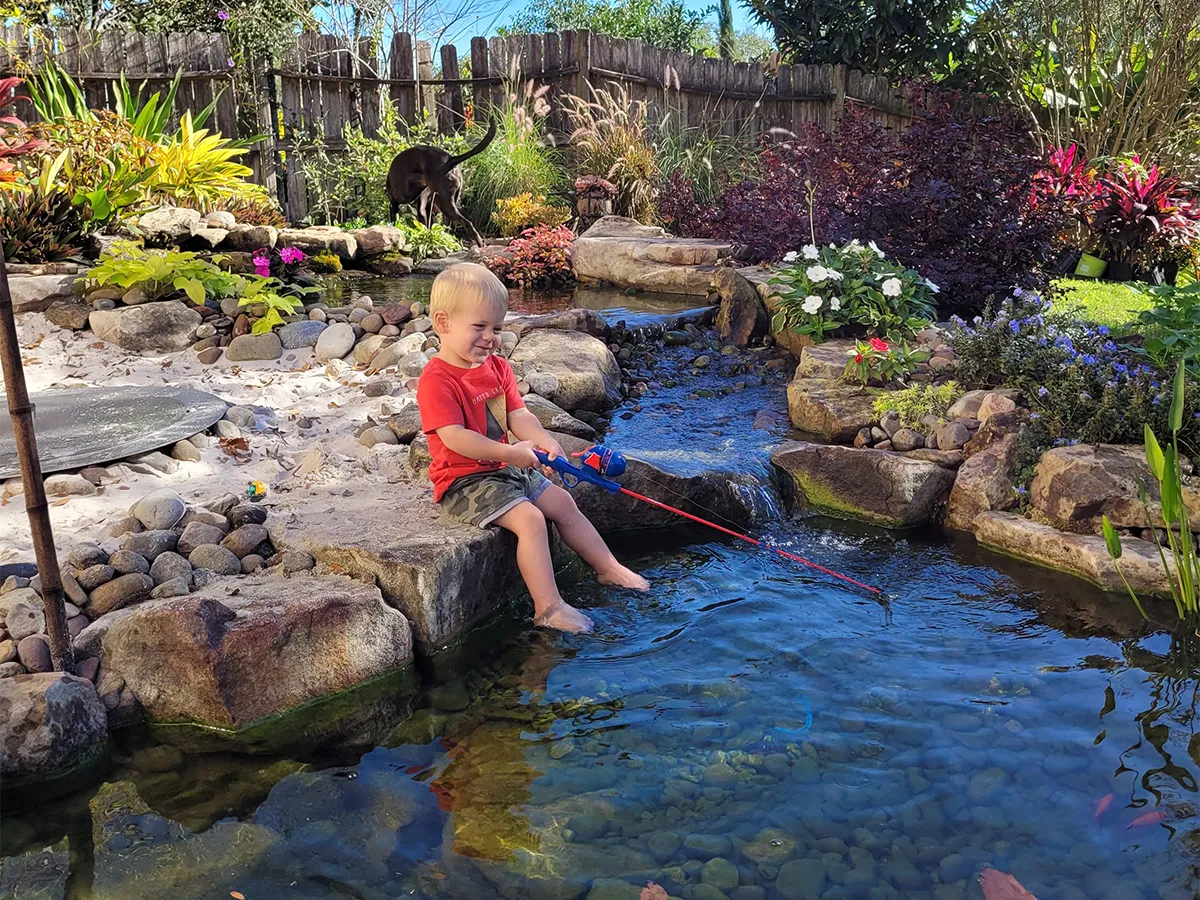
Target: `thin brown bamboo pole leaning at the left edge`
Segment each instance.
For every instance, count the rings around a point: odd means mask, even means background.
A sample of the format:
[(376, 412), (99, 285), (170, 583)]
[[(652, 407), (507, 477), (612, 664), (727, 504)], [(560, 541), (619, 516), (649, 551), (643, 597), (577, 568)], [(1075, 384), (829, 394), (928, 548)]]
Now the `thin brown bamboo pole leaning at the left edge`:
[(46, 632), (50, 638), (50, 661), (55, 672), (74, 674), (74, 652), (71, 648), (71, 634), (67, 631), (67, 611), (62, 605), (62, 578), (59, 575), (59, 559), (54, 550), (54, 533), (50, 530), (50, 506), (46, 502), (42, 464), (37, 458), (34, 407), (25, 389), (25, 370), (20, 362), (17, 318), (13, 314), (12, 294), (8, 292), (8, 270), (4, 264), (2, 246), (0, 246), (0, 366), (4, 372), (5, 391), (8, 395), (12, 434), (17, 442), (20, 480), (25, 486), (25, 512), (34, 538), (37, 574), (42, 582)]

